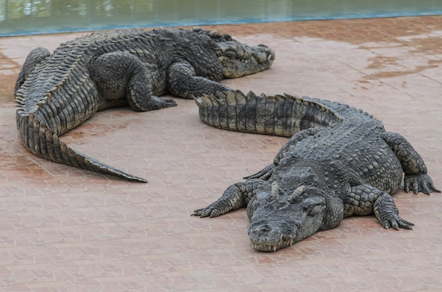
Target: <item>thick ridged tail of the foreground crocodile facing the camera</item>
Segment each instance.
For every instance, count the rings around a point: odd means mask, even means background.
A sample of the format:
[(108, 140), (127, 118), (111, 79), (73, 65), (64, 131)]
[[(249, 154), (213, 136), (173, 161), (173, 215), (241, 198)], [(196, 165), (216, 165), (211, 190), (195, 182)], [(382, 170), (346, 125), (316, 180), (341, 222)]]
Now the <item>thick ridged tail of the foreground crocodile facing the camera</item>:
[(195, 98), (201, 121), (225, 130), (291, 137), (305, 128), (331, 126), (342, 118), (319, 99), (228, 91)]

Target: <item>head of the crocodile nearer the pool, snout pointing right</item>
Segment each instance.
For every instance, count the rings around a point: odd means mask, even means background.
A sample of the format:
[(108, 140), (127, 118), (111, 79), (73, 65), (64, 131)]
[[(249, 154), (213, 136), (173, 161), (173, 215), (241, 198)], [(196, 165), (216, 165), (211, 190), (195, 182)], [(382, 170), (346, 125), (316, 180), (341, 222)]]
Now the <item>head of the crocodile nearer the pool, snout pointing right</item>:
[(275, 60), (275, 52), (264, 44), (250, 47), (216, 30), (201, 28), (193, 30), (208, 35), (215, 42), (224, 78), (238, 78), (258, 73), (270, 68)]

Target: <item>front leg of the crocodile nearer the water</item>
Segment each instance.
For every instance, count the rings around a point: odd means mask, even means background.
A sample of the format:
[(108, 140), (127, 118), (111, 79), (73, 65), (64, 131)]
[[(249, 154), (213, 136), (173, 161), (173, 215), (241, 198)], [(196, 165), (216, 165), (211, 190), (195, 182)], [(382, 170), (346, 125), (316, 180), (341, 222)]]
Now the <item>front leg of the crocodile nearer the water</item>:
[[(221, 78), (219, 78), (221, 80)], [(187, 61), (177, 61), (169, 66), (167, 74), (167, 89), (173, 95), (186, 99), (199, 97), (203, 93), (210, 95), (216, 92), (232, 91), (229, 87), (217, 83), (208, 78), (197, 76), (191, 63)]]

